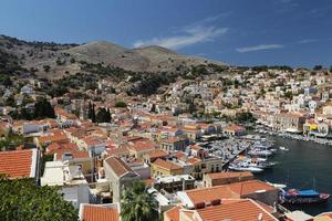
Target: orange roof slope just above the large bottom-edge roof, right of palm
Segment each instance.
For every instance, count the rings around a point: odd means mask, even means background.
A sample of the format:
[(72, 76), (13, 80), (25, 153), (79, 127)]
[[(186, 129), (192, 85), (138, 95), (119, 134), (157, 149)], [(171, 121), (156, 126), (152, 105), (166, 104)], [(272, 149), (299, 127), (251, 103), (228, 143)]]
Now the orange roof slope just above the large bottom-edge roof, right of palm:
[(216, 199), (237, 198), (226, 186), (188, 190), (186, 193), (194, 204), (210, 202)]

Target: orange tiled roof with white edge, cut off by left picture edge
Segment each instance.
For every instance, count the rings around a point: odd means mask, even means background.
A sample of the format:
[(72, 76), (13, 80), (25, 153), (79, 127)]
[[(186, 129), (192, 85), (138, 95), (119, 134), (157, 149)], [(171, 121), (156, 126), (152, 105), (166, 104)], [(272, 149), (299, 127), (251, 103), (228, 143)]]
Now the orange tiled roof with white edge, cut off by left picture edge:
[(0, 151), (0, 173), (10, 178), (31, 177), (33, 164), (37, 164), (37, 160), (33, 162), (34, 152), (37, 155), (37, 150), (32, 149)]

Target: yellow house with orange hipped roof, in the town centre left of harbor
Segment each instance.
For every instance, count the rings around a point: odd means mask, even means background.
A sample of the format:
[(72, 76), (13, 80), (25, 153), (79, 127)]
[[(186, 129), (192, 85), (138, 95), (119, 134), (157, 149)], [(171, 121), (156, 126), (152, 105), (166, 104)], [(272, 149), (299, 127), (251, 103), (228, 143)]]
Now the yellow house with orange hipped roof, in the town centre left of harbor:
[(180, 166), (160, 158), (151, 164), (151, 173), (154, 178), (158, 176), (183, 175), (184, 171)]

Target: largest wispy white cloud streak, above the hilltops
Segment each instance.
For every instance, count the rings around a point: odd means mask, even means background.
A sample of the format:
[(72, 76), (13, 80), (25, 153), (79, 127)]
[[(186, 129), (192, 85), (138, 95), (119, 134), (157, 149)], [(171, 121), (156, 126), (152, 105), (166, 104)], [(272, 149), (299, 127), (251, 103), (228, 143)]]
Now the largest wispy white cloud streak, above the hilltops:
[(221, 36), (228, 31), (228, 28), (215, 28), (215, 27), (193, 27), (183, 30), (184, 34), (166, 36), (166, 38), (153, 38), (147, 41), (136, 41), (134, 48), (159, 45), (167, 49), (181, 49), (188, 45), (214, 41), (216, 38)]

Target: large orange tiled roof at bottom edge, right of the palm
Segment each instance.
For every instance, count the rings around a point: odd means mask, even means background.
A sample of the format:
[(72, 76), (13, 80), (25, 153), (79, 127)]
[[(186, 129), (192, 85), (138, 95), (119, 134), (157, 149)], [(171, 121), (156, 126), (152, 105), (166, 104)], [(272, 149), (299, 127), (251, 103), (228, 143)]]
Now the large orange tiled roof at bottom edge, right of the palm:
[(248, 221), (258, 220), (259, 215), (262, 215), (263, 221), (277, 220), (263, 208), (261, 208), (253, 200), (243, 199), (238, 200), (234, 203), (226, 203), (214, 207), (207, 207), (197, 210), (199, 217), (204, 221), (220, 221), (220, 220), (236, 220), (236, 221)]

